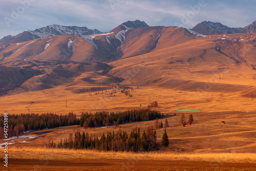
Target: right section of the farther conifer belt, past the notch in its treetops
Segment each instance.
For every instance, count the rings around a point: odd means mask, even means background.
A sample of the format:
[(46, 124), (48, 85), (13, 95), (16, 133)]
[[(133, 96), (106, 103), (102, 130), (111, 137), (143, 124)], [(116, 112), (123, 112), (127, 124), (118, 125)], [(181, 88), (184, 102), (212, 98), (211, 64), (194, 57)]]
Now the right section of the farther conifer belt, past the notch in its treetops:
[(162, 115), (156, 110), (138, 109), (129, 110), (121, 113), (96, 112), (82, 113), (80, 117), (80, 126), (85, 128), (95, 126), (118, 125), (134, 121), (146, 121), (161, 118)]

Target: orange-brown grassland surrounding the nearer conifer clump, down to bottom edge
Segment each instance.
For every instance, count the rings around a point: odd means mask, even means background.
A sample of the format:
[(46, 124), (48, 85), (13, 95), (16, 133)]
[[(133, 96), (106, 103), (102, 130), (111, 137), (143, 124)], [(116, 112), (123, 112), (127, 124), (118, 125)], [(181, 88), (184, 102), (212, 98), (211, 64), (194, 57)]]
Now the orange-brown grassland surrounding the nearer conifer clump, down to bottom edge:
[[(185, 113), (186, 119), (190, 113)], [(76, 130), (101, 135), (117, 131), (114, 126), (84, 130), (80, 126), (32, 131), (14, 138), (9, 145), (13, 170), (254, 170), (256, 168), (256, 113), (191, 113), (195, 123), (181, 127), (181, 113), (168, 117), (169, 146), (150, 153), (98, 152), (92, 150), (49, 149), (49, 140), (58, 142)], [(159, 121), (163, 121), (159, 119)], [(221, 124), (225, 121), (226, 124)], [(121, 129), (129, 133), (135, 127), (145, 130), (154, 120), (126, 123)], [(160, 142), (164, 129), (158, 129)], [(25, 137), (23, 137), (25, 136)], [(2, 143), (2, 141), (1, 141)], [(3, 149), (1, 149), (3, 155)], [(13, 162), (12, 162), (13, 161)], [(151, 162), (152, 161), (152, 162)], [(151, 164), (152, 163), (152, 164)], [(154, 164), (153, 164), (154, 163)], [(239, 164), (238, 164), (239, 163)], [(63, 167), (62, 167), (63, 166)]]

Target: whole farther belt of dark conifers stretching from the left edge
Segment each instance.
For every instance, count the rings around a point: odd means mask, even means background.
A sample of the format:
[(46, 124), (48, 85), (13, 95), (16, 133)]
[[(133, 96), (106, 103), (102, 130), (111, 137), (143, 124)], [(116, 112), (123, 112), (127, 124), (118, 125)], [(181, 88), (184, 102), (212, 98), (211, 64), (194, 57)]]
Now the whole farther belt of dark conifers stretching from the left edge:
[[(57, 115), (46, 114), (9, 114), (8, 137), (18, 136), (29, 130), (52, 129), (59, 126), (80, 125), (84, 127), (110, 126), (127, 122), (146, 121), (161, 118), (162, 115), (156, 110), (139, 109), (120, 113), (96, 112), (82, 113), (80, 118), (76, 114), (69, 113)], [(4, 137), (4, 115), (0, 115), (0, 139)]]

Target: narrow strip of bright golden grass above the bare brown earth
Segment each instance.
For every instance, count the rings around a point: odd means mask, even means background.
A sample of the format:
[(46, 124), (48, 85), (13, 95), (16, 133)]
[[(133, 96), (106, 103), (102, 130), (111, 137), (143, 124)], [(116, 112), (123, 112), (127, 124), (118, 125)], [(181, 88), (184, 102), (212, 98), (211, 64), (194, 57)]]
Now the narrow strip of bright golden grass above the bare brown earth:
[[(3, 149), (0, 151), (4, 154)], [(84, 149), (59, 149), (46, 147), (9, 147), (9, 154), (17, 159), (129, 159), (129, 160), (193, 160), (212, 162), (256, 163), (254, 153), (173, 153), (173, 152), (99, 152)]]

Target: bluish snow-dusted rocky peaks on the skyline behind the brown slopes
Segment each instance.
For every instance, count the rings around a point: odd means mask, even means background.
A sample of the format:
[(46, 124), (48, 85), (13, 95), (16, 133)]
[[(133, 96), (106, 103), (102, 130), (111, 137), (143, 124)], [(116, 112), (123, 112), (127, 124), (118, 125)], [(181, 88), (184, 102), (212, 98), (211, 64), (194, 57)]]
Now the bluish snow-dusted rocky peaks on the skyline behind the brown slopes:
[[(139, 27), (148, 27), (145, 22), (140, 20), (127, 21), (117, 26), (110, 32), (120, 32), (123, 30), (131, 30)], [(191, 30), (204, 34), (204, 35), (217, 35), (217, 34), (236, 34), (236, 33), (255, 33), (256, 32), (256, 21), (244, 28), (230, 28), (221, 23), (214, 23), (210, 21), (204, 21), (197, 24)], [(36, 29), (34, 31), (24, 31), (18, 35), (12, 36), (8, 35), (0, 39), (0, 43), (5, 41), (4, 44), (14, 44), (19, 42), (24, 42), (28, 40), (33, 40), (37, 38), (44, 38), (57, 35), (65, 34), (78, 34), (78, 35), (91, 35), (102, 33), (97, 29), (88, 29), (87, 27), (77, 27), (77, 26), (60, 26), (60, 25), (50, 25), (43, 28)], [(4, 45), (3, 44), (3, 45)], [(1, 46), (2, 44), (0, 44)]]

